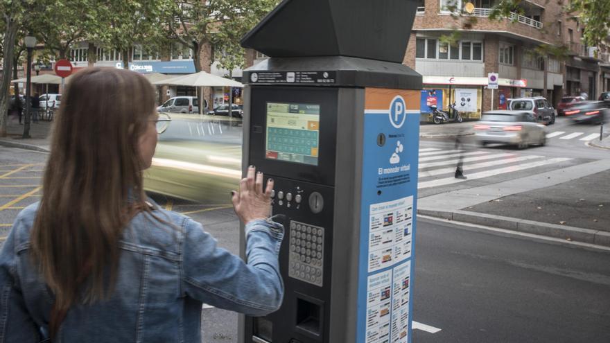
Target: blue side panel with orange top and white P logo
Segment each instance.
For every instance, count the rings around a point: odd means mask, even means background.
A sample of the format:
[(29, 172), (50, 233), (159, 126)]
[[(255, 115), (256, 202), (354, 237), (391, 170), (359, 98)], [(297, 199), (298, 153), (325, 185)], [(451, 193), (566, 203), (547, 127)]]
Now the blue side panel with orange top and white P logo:
[(366, 92), (358, 343), (411, 342), (419, 95)]

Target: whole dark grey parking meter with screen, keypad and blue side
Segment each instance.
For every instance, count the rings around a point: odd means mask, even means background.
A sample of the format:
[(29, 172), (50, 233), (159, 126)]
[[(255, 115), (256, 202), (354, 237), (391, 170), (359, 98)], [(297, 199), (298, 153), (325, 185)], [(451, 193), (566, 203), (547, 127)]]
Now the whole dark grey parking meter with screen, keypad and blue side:
[(416, 8), (286, 0), (242, 40), (270, 57), (243, 73), (243, 166), (275, 180), (286, 292), (239, 318), (239, 342), (411, 342), (421, 76), (401, 62)]

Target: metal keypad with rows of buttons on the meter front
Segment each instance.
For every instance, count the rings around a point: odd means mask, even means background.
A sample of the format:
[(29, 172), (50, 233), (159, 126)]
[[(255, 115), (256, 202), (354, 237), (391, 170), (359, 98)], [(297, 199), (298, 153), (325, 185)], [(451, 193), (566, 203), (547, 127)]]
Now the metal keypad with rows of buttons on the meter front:
[(288, 276), (322, 287), (324, 228), (290, 221)]

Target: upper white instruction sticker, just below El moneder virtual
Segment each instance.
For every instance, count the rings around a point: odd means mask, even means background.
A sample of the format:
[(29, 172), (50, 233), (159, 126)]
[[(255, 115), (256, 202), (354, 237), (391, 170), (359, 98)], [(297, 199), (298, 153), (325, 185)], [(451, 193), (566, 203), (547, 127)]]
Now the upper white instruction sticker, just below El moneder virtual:
[(372, 204), (369, 211), (368, 272), (411, 257), (413, 197)]

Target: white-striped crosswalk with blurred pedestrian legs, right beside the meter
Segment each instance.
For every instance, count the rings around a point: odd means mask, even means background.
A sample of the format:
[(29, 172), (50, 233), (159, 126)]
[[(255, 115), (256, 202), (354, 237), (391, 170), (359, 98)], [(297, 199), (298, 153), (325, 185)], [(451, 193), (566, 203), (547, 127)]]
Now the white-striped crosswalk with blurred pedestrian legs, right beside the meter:
[[(454, 177), (460, 158), (467, 179), (456, 179)], [(521, 170), (531, 170), (541, 166), (552, 166), (569, 160), (568, 157), (544, 157), (542, 155), (524, 155), (512, 152), (496, 152), (494, 150), (464, 151), (424, 148), (419, 150), (419, 183), (417, 188), (459, 184), (476, 179), (516, 173)]]

